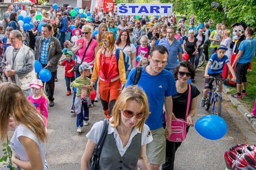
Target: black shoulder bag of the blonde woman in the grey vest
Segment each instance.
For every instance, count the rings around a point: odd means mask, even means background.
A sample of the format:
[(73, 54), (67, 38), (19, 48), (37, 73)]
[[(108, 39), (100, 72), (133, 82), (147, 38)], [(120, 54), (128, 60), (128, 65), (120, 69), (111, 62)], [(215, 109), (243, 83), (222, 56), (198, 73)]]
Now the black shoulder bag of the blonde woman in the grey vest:
[(101, 132), (100, 140), (94, 149), (93, 156), (91, 157), (90, 170), (98, 170), (99, 169), (99, 159), (100, 159), (101, 149), (102, 149), (106, 134), (108, 134), (108, 127), (109, 127), (108, 122), (109, 122), (109, 119), (104, 119), (104, 121), (103, 121), (103, 129)]

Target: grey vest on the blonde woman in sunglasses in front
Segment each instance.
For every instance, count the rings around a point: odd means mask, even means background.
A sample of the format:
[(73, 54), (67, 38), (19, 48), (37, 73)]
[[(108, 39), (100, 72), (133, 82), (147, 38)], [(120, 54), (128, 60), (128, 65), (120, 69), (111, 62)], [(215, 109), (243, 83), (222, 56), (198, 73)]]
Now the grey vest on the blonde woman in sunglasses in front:
[(134, 170), (141, 152), (141, 133), (132, 138), (131, 144), (121, 157), (114, 133), (107, 134), (99, 159), (99, 170)]

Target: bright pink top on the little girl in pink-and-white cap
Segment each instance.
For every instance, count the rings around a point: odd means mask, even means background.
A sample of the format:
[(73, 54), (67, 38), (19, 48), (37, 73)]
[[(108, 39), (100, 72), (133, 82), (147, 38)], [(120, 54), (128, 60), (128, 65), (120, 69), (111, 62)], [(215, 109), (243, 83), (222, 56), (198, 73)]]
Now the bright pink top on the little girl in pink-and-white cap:
[(41, 96), (38, 99), (33, 99), (32, 96), (33, 95), (28, 96), (28, 100), (43, 115), (43, 117), (45, 118), (44, 119), (44, 126), (47, 127), (47, 120), (48, 120), (47, 101), (46, 101), (46, 99), (43, 96)]

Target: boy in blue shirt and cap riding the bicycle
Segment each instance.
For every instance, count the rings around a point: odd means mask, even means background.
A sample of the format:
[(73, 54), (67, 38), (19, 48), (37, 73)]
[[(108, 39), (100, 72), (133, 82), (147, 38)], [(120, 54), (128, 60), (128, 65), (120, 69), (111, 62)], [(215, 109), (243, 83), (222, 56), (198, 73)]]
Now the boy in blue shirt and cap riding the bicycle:
[[(208, 61), (206, 67), (205, 67), (205, 83), (204, 83), (204, 90), (203, 90), (203, 97), (200, 102), (200, 106), (204, 107), (206, 102), (206, 96), (209, 91), (209, 89), (212, 88), (212, 82), (213, 79), (210, 79), (209, 76), (216, 77), (219, 79), (222, 79), (222, 73), (225, 63), (227, 63), (227, 66), (233, 76), (232, 81), (236, 81), (236, 76), (234, 74), (234, 70), (231, 67), (231, 64), (229, 62), (228, 56), (225, 55), (228, 48), (225, 45), (219, 45), (217, 48), (217, 53), (214, 53), (210, 60)], [(219, 84), (219, 92), (222, 93), (222, 84)]]

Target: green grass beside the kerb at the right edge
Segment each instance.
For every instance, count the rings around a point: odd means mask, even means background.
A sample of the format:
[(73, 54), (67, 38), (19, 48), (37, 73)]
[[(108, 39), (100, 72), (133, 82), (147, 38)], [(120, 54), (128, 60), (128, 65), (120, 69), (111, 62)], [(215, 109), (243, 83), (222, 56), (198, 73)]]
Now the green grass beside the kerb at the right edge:
[[(247, 87), (246, 87), (246, 97), (242, 97), (240, 100), (243, 104), (245, 104), (248, 111), (252, 111), (256, 96), (256, 57), (253, 58), (252, 71), (247, 72)], [(230, 88), (230, 93), (235, 94), (237, 92), (237, 88)]]

